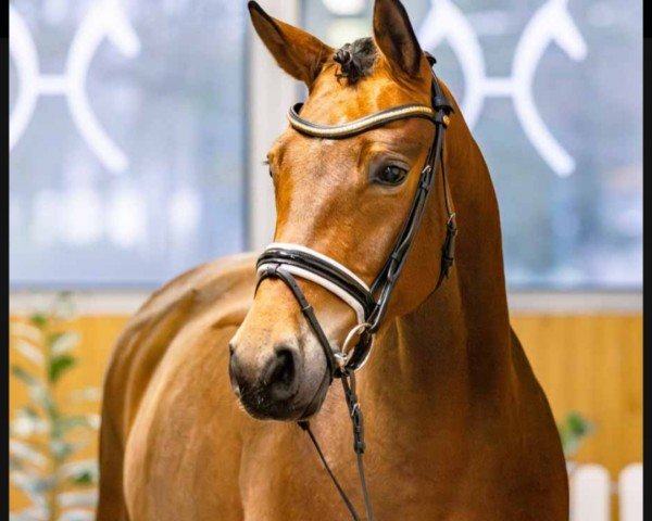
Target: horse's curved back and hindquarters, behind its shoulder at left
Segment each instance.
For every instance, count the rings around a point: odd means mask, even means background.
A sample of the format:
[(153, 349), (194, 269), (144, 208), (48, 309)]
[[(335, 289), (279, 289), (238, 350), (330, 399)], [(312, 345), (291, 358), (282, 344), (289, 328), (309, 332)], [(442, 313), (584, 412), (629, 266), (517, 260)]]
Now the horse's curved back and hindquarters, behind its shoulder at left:
[(255, 255), (249, 253), (200, 265), (155, 291), (125, 326), (104, 374), (98, 521), (128, 519), (125, 445), (168, 346), (206, 314), (214, 317), (213, 331), (238, 326), (253, 296), (254, 266)]

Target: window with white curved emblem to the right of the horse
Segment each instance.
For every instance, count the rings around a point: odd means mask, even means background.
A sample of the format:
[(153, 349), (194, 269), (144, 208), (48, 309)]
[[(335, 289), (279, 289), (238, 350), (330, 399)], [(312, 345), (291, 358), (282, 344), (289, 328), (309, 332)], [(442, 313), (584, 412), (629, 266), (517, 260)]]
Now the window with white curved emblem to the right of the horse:
[[(489, 165), (510, 288), (640, 289), (641, 2), (404, 4)], [(331, 46), (371, 34), (372, 1), (302, 5)]]

